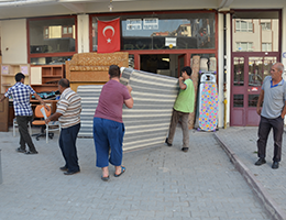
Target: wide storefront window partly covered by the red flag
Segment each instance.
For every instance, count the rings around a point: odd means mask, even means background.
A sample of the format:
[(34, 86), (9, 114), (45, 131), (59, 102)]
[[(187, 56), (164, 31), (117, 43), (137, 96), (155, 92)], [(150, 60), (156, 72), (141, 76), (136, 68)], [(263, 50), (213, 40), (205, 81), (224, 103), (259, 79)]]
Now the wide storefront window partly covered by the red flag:
[[(117, 16), (118, 18), (118, 16)], [(92, 18), (92, 51), (97, 51), (97, 20)], [(152, 13), (121, 15), (121, 50), (189, 50), (216, 47), (216, 14)]]

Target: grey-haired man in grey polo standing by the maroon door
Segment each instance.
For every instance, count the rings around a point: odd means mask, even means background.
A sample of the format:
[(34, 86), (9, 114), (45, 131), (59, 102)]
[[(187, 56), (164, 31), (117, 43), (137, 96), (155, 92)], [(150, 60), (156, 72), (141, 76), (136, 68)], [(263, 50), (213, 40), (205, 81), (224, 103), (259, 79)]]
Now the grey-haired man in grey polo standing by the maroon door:
[[(258, 127), (258, 161), (256, 166), (265, 164), (266, 144), (271, 129), (274, 138), (274, 156), (272, 168), (279, 167), (282, 156), (282, 138), (284, 132), (284, 117), (286, 114), (286, 81), (282, 78), (284, 65), (276, 63), (271, 68), (271, 76), (266, 76), (257, 101), (257, 114), (261, 116)], [(261, 109), (261, 105), (263, 107)]]

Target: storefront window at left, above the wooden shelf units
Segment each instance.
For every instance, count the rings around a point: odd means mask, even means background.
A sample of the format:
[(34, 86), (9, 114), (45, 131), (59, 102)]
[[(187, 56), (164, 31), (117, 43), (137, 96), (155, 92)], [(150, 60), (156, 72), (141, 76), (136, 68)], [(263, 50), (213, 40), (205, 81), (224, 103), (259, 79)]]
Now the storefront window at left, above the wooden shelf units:
[(76, 52), (76, 16), (31, 19), (28, 24), (31, 63), (61, 63), (66, 59), (65, 53), (70, 56)]

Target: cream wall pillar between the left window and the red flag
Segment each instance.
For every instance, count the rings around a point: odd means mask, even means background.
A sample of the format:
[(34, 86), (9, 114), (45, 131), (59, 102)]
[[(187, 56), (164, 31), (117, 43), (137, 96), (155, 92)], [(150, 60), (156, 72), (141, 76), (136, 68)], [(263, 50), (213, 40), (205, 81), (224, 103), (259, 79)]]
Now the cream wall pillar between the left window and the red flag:
[(80, 14), (77, 16), (77, 50), (78, 53), (89, 52), (89, 16)]

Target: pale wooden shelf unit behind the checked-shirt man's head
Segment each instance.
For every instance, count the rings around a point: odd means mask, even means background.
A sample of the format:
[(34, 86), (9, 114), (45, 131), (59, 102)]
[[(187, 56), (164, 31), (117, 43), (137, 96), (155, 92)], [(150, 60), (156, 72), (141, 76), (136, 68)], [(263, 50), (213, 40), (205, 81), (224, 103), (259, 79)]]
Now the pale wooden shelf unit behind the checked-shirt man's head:
[(30, 65), (29, 64), (2, 64), (1, 65), (1, 92), (15, 84), (15, 75), (22, 73), (25, 75), (25, 84), (30, 85)]

